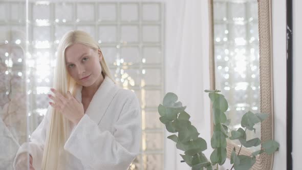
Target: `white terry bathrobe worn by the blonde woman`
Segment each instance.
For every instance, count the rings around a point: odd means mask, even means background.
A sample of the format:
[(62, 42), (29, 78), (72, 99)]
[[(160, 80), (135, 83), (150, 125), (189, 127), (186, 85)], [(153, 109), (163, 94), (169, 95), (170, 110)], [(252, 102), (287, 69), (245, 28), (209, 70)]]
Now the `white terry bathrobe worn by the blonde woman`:
[[(79, 101), (81, 89), (75, 96)], [(29, 152), (36, 170), (41, 169), (49, 121), (48, 112), (32, 133), (31, 142), (21, 145), (16, 154), (17, 158), (20, 153)], [(85, 115), (72, 127), (64, 145), (70, 156), (67, 164), (58, 169), (125, 170), (139, 154), (140, 140), (141, 112), (135, 93), (119, 88), (105, 77)]]

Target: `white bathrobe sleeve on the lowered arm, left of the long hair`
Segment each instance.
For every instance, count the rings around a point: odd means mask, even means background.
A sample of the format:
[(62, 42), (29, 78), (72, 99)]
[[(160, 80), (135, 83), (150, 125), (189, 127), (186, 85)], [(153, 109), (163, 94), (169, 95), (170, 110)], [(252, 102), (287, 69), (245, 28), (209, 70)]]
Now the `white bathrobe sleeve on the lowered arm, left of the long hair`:
[(50, 120), (50, 107), (47, 110), (46, 116), (44, 116), (41, 123), (31, 134), (30, 142), (25, 142), (19, 147), (13, 162), (14, 168), (17, 163), (16, 161), (18, 159), (18, 156), (25, 152), (29, 153), (32, 156), (34, 168), (35, 169), (41, 168), (43, 151), (46, 141), (46, 128), (48, 127), (49, 120)]

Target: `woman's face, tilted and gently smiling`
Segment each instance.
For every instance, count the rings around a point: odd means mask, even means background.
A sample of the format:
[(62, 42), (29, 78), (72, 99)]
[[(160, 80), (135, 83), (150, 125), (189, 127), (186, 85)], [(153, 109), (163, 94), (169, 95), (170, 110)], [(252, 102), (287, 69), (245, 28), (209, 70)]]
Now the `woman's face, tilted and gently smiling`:
[(65, 50), (65, 62), (68, 73), (84, 87), (92, 86), (103, 79), (100, 51), (76, 43)]

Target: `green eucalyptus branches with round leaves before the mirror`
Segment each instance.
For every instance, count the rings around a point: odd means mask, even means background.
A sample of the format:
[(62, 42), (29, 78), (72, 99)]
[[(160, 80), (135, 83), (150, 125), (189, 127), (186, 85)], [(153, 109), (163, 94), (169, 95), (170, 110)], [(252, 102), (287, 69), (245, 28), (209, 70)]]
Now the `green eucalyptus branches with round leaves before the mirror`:
[[(230, 119), (227, 119), (225, 112), (228, 109), (228, 102), (224, 95), (219, 94), (218, 90), (205, 90), (209, 93), (209, 98), (212, 102), (213, 114), (213, 135), (211, 138), (211, 147), (214, 149), (210, 155), (210, 160), (203, 154), (207, 149), (206, 141), (199, 137), (195, 126), (189, 120), (190, 115), (185, 112), (186, 107), (178, 101), (178, 97), (174, 93), (167, 93), (164, 96), (163, 103), (158, 106), (158, 113), (160, 114), (160, 121), (165, 124), (165, 127), (170, 133), (177, 133), (170, 135), (167, 138), (176, 142), (176, 147), (184, 151), (180, 154), (183, 158), (182, 162), (186, 162), (192, 170), (200, 169), (218, 169), (218, 165), (223, 165), (227, 157), (227, 138), (230, 140), (239, 140), (241, 143), (240, 150), (236, 154), (235, 148), (231, 153), (230, 163), (235, 170), (250, 169), (256, 161), (256, 155), (273, 154), (279, 148), (279, 143), (274, 140), (267, 140), (262, 142), (259, 138), (247, 140), (246, 131), (254, 131), (254, 125), (260, 123), (268, 117), (268, 114), (252, 113), (248, 111), (241, 120), (242, 128), (236, 131), (231, 131), (228, 134), (228, 125)], [(253, 152), (251, 155), (240, 155), (242, 146), (252, 147), (262, 144), (259, 151)]]

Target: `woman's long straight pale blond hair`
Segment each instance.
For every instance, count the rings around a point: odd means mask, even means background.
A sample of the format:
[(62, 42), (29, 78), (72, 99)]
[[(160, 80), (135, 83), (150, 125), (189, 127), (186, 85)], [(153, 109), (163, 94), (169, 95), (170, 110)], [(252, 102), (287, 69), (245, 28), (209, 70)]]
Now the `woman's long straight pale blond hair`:
[[(64, 96), (66, 96), (68, 91), (75, 96), (76, 90), (79, 87), (76, 81), (67, 72), (65, 65), (65, 50), (76, 43), (86, 45), (94, 50), (100, 49), (98, 43), (84, 31), (74, 30), (63, 35), (57, 50), (53, 87)], [(104, 57), (102, 57), (100, 65), (102, 75), (111, 78), (115, 82)], [(71, 132), (71, 122), (68, 119), (64, 118), (62, 114), (55, 109), (51, 109), (50, 112), (52, 114), (43, 153), (42, 170), (54, 170), (57, 169), (58, 164), (65, 163), (61, 158), (59, 160), (59, 156), (67, 156), (63, 146)]]

